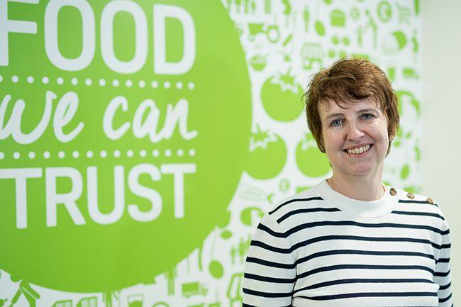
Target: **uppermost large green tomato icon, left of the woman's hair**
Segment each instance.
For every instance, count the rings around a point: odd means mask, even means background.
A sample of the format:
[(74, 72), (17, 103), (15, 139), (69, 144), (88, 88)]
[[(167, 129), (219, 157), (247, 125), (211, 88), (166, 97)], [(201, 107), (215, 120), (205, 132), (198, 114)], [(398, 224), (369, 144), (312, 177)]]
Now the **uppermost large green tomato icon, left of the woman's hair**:
[(261, 89), (262, 106), (276, 121), (293, 121), (303, 111), (302, 87), (287, 74), (277, 74), (264, 82)]

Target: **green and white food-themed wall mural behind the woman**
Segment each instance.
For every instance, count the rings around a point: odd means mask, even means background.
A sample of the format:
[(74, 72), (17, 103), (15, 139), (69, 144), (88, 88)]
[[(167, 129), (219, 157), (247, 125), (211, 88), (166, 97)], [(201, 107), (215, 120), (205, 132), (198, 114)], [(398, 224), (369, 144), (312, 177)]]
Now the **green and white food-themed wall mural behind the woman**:
[(241, 306), (275, 203), (331, 174), (311, 74), (382, 67), (418, 191), (417, 0), (0, 0), (0, 307)]

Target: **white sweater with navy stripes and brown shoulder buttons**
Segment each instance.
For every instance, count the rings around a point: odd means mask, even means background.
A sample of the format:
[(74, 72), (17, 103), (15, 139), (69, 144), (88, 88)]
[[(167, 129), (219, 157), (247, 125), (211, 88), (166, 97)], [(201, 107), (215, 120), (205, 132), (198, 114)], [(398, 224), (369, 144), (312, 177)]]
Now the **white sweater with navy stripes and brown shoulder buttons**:
[(262, 218), (243, 306), (450, 307), (450, 246), (431, 199), (387, 187), (377, 201), (357, 201), (323, 180)]

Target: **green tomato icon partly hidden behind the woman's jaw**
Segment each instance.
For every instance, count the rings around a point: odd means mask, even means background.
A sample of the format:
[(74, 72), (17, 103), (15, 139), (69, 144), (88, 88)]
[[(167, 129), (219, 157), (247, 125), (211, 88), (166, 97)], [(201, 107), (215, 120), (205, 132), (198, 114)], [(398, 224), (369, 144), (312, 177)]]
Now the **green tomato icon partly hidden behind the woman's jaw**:
[(318, 150), (316, 140), (307, 133), (296, 146), (296, 164), (307, 177), (320, 177), (330, 172), (331, 166), (326, 155)]

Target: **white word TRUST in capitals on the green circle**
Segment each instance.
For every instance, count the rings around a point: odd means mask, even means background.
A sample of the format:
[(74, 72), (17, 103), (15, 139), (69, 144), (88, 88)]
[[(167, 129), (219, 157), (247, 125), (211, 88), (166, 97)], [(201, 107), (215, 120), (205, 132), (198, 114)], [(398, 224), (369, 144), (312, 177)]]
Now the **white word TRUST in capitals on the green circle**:
[[(160, 182), (162, 175), (173, 175), (173, 196), (174, 218), (184, 218), (185, 216), (185, 196), (184, 196), (184, 175), (194, 174), (196, 164), (161, 164), (160, 167), (154, 164), (137, 164), (128, 173), (128, 188), (130, 192), (146, 199), (149, 204), (130, 203), (127, 206), (128, 214), (134, 221), (150, 222), (157, 219), (162, 213), (163, 200), (161, 194), (152, 188), (152, 184), (146, 184), (141, 180), (143, 176), (149, 176), (152, 182)], [(28, 228), (28, 204), (27, 204), (27, 180), (43, 177), (43, 170), (40, 168), (19, 168), (19, 169), (0, 169), (0, 179), (14, 179), (16, 183), (16, 228)], [(99, 225), (109, 225), (121, 220), (125, 213), (125, 172), (124, 167), (116, 165), (113, 168), (113, 210), (110, 213), (103, 213), (99, 207), (98, 200), (98, 169), (95, 166), (87, 167), (87, 208), (89, 221), (94, 221)], [(66, 181), (65, 186), (70, 186), (70, 191), (62, 193), (59, 189), (60, 182)], [(143, 182), (143, 184), (141, 183)], [(75, 225), (85, 225), (84, 216), (80, 211), (77, 201), (83, 206), (82, 199), (83, 177), (78, 169), (72, 167), (48, 167), (45, 169), (45, 209), (46, 226), (57, 226), (57, 205), (64, 205), (63, 208), (69, 213)], [(107, 201), (107, 198), (104, 197)], [(37, 199), (35, 202), (43, 201)], [(106, 203), (104, 203), (106, 205)], [(104, 206), (107, 207), (107, 206)], [(60, 209), (63, 210), (63, 209)], [(84, 211), (86, 212), (86, 211)], [(62, 218), (63, 216), (60, 215)]]

